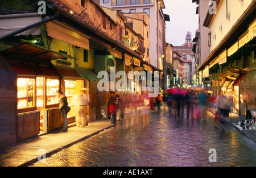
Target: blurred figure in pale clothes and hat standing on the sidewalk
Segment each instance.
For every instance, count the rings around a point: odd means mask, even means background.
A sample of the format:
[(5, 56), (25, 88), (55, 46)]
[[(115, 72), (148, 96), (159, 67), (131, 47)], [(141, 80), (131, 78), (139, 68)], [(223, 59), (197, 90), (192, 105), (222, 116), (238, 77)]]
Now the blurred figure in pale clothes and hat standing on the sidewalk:
[(79, 127), (88, 126), (88, 111), (87, 106), (90, 103), (87, 89), (82, 88), (80, 94), (76, 94), (72, 97), (71, 104), (74, 106), (76, 111), (76, 125)]

